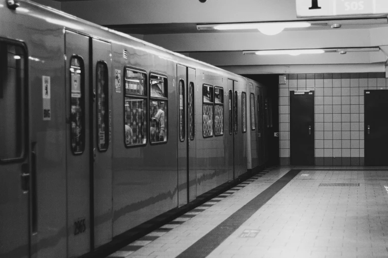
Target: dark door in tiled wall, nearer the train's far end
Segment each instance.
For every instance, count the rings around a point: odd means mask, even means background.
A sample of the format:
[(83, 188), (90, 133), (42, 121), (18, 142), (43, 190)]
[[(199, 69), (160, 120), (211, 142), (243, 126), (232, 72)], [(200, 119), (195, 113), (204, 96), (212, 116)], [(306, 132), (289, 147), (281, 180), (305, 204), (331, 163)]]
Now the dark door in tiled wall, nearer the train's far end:
[(290, 164), (314, 165), (314, 90), (290, 91)]

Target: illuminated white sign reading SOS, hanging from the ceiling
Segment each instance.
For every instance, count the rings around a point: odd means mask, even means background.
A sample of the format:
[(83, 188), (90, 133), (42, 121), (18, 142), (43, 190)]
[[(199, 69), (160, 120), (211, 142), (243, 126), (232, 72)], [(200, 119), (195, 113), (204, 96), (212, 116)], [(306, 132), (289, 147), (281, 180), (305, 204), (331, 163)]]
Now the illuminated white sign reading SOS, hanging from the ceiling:
[(387, 14), (388, 0), (296, 0), (297, 17)]

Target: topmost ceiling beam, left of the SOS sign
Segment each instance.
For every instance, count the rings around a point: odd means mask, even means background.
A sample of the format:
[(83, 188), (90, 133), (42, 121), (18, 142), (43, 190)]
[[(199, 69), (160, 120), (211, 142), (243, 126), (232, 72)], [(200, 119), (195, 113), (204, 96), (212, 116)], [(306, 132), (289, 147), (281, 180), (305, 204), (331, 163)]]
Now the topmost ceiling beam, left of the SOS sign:
[(294, 0), (78, 0), (62, 10), (105, 25), (296, 20)]

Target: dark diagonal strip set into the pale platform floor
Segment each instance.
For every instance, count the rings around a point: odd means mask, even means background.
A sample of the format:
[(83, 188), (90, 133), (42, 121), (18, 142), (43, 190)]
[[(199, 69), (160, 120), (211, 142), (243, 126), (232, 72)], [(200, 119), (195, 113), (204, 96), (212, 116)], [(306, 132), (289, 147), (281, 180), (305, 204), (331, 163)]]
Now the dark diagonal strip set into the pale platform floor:
[(273, 196), (277, 194), (301, 170), (290, 170), (266, 190), (241, 207), (234, 214), (226, 218), (221, 224), (183, 251), (178, 258), (205, 258), (213, 252), (228, 236), (230, 236), (242, 223), (257, 212)]

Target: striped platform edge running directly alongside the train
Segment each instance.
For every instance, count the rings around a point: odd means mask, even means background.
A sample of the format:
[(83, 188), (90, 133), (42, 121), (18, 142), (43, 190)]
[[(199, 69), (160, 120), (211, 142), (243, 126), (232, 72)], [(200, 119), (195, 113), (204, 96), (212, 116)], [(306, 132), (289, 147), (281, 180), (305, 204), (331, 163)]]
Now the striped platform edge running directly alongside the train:
[[(222, 198), (228, 197), (228, 196), (234, 194), (235, 192), (237, 192), (238, 190), (241, 190), (242, 188), (244, 188), (248, 184), (254, 182), (256, 179), (258, 179), (258, 178), (262, 177), (263, 175), (267, 174), (268, 172), (272, 171), (274, 168), (275, 167), (268, 168), (262, 172), (259, 172), (255, 175), (251, 176), (247, 180), (241, 182), (240, 184), (234, 186), (233, 188), (230, 188), (229, 190), (226, 190), (222, 194), (220, 194), (220, 195), (216, 196), (215, 198), (209, 200), (208, 202), (198, 206), (197, 208), (189, 211), (188, 213), (181, 215), (170, 222), (167, 222), (165, 225), (154, 230), (153, 232), (151, 232), (147, 236), (139, 238), (136, 241), (130, 243), (129, 245), (121, 248), (119, 251), (116, 251), (115, 253), (108, 256), (108, 258), (126, 258), (127, 256), (131, 255), (132, 253), (141, 249), (142, 247), (150, 244), (151, 242), (153, 242), (157, 238), (163, 236), (168, 231), (172, 230), (173, 228), (177, 227), (178, 225), (183, 224), (184, 222), (186, 222), (190, 218), (194, 217), (195, 215), (198, 215), (201, 212), (208, 209), (209, 207), (212, 207), (217, 202), (220, 202), (222, 200)], [(152, 236), (152, 239), (150, 238), (150, 236)]]

